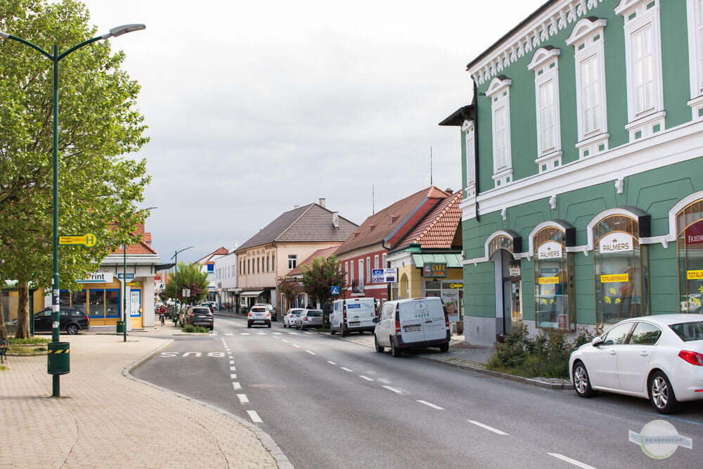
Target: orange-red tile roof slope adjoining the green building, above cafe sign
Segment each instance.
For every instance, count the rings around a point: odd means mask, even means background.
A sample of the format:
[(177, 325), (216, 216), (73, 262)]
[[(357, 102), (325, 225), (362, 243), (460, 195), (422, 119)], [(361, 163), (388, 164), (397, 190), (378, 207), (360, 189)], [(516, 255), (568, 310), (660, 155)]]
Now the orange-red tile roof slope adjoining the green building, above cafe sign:
[(423, 249), (451, 249), (461, 223), (460, 203), (461, 191), (442, 200), (394, 250), (407, 248), (411, 243), (419, 243)]

